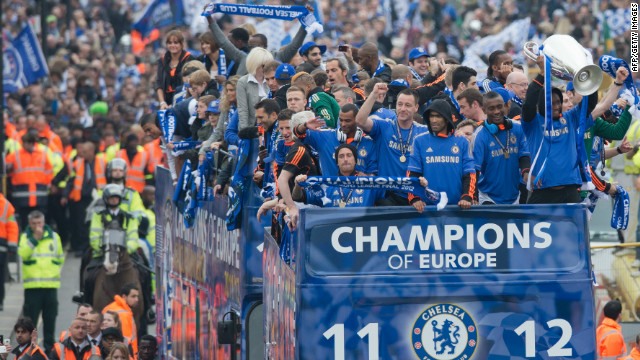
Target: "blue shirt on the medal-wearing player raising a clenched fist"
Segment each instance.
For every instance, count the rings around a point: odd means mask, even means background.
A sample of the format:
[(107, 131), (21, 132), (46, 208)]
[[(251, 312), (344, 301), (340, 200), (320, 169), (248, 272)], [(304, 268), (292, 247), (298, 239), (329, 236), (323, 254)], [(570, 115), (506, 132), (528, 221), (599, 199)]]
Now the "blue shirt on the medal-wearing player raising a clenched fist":
[[(424, 133), (429, 132), (429, 128), (425, 125), (413, 123), (413, 131), (411, 129), (402, 129), (397, 125), (395, 113), (392, 117), (381, 117), (391, 115), (390, 113), (382, 113), (376, 111), (369, 119), (373, 120), (373, 128), (369, 136), (376, 142), (378, 148), (378, 175), (379, 176), (406, 176), (407, 164), (409, 163), (409, 155), (413, 147), (413, 139)], [(402, 136), (402, 142), (406, 145), (407, 150), (404, 154), (407, 161), (401, 162), (402, 145), (398, 138), (398, 130)], [(409, 134), (411, 133), (411, 136)], [(411, 137), (411, 138), (409, 138)], [(406, 193), (398, 193), (404, 194)]]

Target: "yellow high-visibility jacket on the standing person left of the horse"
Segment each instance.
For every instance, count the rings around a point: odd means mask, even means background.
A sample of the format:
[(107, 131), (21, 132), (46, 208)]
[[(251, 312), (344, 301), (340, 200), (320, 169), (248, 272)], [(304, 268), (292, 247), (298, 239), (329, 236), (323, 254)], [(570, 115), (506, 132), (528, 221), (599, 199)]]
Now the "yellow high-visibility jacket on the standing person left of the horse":
[(64, 249), (60, 236), (48, 225), (41, 240), (25, 231), (20, 236), (18, 255), (22, 258), (22, 277), (25, 289), (57, 289), (60, 287), (60, 269), (64, 263)]

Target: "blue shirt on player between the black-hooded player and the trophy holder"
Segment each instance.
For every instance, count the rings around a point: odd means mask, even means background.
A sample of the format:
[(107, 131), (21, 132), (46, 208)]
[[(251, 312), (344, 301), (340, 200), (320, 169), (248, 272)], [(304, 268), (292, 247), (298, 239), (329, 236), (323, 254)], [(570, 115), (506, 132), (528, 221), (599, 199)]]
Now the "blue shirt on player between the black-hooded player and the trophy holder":
[[(530, 156), (522, 126), (514, 122), (511, 129), (498, 131), (499, 141), (484, 126), (474, 136), (473, 161), (480, 171), (478, 190), (497, 204), (512, 204), (520, 195), (520, 158)], [(505, 159), (503, 147), (506, 148), (507, 143), (509, 158)]]

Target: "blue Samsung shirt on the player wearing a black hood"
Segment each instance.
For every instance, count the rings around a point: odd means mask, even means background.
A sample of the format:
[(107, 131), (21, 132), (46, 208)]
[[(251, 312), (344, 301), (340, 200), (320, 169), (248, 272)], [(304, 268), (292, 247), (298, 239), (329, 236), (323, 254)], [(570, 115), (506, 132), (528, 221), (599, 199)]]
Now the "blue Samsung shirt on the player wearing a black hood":
[(449, 204), (457, 204), (462, 197), (462, 176), (476, 172), (466, 138), (429, 133), (418, 135), (413, 141), (408, 169), (421, 173), (429, 182), (429, 189), (447, 193)]

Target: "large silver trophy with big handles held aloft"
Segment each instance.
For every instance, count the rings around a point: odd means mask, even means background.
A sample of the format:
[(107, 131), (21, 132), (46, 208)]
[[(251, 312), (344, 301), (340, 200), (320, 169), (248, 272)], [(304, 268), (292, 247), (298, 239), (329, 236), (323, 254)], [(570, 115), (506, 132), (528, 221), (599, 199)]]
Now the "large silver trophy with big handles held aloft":
[[(538, 44), (528, 41), (524, 54), (531, 60), (538, 57)], [(593, 94), (602, 83), (602, 70), (593, 63), (589, 51), (569, 35), (551, 35), (542, 43), (542, 52), (551, 61), (551, 74), (562, 80), (573, 81), (580, 95)]]

